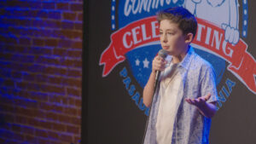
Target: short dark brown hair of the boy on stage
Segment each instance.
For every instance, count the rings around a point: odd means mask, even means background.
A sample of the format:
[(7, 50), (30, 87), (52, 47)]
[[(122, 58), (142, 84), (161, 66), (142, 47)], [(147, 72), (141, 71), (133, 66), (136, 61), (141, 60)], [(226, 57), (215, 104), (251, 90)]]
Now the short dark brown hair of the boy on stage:
[(178, 25), (182, 30), (183, 35), (191, 32), (193, 38), (195, 37), (197, 21), (195, 16), (191, 14), (189, 10), (184, 9), (183, 7), (173, 7), (158, 12), (156, 16), (159, 23), (161, 20), (171, 20)]

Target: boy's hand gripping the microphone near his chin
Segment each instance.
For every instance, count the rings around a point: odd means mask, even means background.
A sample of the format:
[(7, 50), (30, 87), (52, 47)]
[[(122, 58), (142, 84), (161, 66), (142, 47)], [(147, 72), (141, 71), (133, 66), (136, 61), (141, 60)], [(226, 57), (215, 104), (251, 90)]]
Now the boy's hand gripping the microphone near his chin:
[(152, 72), (164, 71), (164, 69), (166, 68), (166, 63), (167, 61), (164, 58), (156, 55), (154, 57), (154, 60), (152, 61)]

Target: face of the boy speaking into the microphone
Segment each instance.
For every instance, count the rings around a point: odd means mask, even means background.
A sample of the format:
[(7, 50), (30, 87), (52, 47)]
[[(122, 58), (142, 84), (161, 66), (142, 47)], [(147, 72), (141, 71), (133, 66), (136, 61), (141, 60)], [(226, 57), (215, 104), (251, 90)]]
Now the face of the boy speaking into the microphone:
[(182, 30), (171, 20), (160, 21), (160, 43), (169, 55), (181, 55), (189, 44)]

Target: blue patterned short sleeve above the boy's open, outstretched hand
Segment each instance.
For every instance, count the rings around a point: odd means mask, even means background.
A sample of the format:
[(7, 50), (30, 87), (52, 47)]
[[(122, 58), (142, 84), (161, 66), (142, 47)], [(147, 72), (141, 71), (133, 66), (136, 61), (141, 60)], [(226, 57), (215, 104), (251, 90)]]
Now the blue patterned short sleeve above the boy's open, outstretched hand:
[(202, 78), (201, 78), (201, 96), (212, 95), (207, 102), (218, 101), (218, 92), (216, 89), (216, 74), (214, 69), (209, 64), (202, 68)]

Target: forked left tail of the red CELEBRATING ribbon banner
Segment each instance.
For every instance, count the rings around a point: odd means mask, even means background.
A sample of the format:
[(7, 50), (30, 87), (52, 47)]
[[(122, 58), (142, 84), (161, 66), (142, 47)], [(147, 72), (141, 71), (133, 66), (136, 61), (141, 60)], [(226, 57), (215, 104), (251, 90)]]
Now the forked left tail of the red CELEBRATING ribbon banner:
[(104, 65), (102, 77), (108, 76), (108, 74), (113, 70), (115, 66), (117, 66), (120, 62), (125, 60), (125, 56), (116, 55), (115, 49), (113, 47), (113, 43), (110, 43), (108, 49), (105, 49), (102, 52), (100, 66)]

